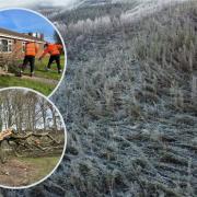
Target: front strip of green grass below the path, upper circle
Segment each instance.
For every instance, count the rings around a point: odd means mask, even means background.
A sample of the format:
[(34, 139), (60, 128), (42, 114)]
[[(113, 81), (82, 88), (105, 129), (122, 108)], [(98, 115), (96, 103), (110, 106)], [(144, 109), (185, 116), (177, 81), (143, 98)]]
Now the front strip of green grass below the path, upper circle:
[(56, 85), (54, 84), (42, 83), (28, 79), (21, 79), (19, 77), (1, 76), (0, 88), (8, 88), (8, 86), (30, 88), (45, 95), (49, 95), (53, 92), (53, 90), (56, 88)]

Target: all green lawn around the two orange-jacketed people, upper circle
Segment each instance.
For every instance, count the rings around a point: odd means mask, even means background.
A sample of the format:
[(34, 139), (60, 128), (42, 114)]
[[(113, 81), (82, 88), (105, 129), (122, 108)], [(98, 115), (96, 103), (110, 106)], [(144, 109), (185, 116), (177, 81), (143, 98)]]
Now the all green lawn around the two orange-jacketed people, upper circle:
[[(22, 60), (19, 62), (21, 63)], [(35, 77), (43, 79), (43, 82), (39, 80), (33, 79), (22, 79), (14, 76), (1, 76), (0, 78), (0, 88), (8, 88), (8, 86), (24, 86), (36, 90), (45, 95), (49, 95), (53, 90), (56, 88), (58, 81), (61, 78), (61, 74), (57, 72), (57, 66), (54, 62), (51, 65), (51, 70), (46, 71), (45, 67), (47, 66), (48, 57), (43, 58), (42, 61), (36, 59), (35, 62)], [(61, 68), (65, 68), (65, 57), (61, 56)], [(27, 67), (24, 71), (24, 76), (30, 74), (30, 68)], [(51, 81), (50, 81), (51, 80)]]

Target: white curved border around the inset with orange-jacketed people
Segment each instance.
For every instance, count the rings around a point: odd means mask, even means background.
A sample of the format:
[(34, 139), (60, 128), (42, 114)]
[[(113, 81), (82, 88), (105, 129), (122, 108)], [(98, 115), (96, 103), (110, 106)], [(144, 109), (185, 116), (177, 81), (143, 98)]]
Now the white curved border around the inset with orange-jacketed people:
[[(59, 35), (60, 39), (61, 39), (61, 43), (63, 45), (63, 50), (65, 50), (65, 68), (63, 68), (63, 71), (61, 73), (61, 79), (59, 80), (58, 84), (56, 85), (56, 88), (51, 91), (51, 93), (49, 95), (46, 95), (47, 97), (50, 97), (56, 91), (57, 89), (59, 88), (60, 83), (62, 82), (63, 78), (65, 78), (65, 73), (66, 73), (66, 70), (67, 70), (67, 47), (66, 47), (66, 44), (65, 44), (65, 40), (60, 34), (60, 32), (58, 31), (58, 28), (55, 26), (55, 24), (49, 21), (45, 15), (40, 14), (39, 12), (36, 12), (34, 10), (31, 10), (31, 9), (25, 9), (25, 8), (16, 8), (16, 7), (13, 7), (13, 8), (5, 8), (5, 9), (0, 9), (0, 12), (3, 12), (3, 11), (8, 11), (8, 10), (22, 10), (22, 11), (27, 11), (27, 12), (31, 12), (31, 13), (34, 13), (40, 18), (43, 18), (46, 22), (48, 22), (53, 27), (54, 30), (57, 32), (57, 34)], [(30, 89), (30, 88), (26, 88), (26, 89)], [(43, 93), (42, 93), (43, 94)]]

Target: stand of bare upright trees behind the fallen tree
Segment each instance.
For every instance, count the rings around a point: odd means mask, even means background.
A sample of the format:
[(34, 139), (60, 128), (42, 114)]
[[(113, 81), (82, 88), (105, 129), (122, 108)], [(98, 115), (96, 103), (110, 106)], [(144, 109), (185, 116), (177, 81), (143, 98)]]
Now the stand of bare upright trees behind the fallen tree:
[[(61, 127), (59, 114), (44, 97), (32, 92), (12, 90), (0, 93), (0, 129), (15, 128), (19, 132)], [(48, 124), (48, 119), (51, 119)]]

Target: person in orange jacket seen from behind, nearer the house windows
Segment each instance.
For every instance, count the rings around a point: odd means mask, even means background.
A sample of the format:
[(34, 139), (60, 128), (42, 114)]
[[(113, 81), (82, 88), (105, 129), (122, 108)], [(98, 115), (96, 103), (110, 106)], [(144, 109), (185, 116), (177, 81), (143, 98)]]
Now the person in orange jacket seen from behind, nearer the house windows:
[(31, 77), (34, 76), (35, 56), (36, 56), (37, 53), (38, 53), (38, 46), (36, 45), (36, 43), (27, 42), (25, 44), (25, 57), (24, 57), (24, 60), (23, 60), (21, 73), (25, 69), (26, 65), (30, 62)]

